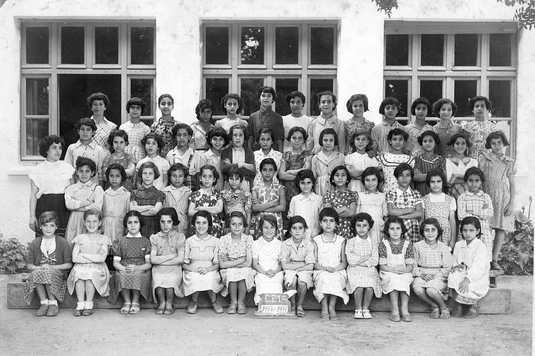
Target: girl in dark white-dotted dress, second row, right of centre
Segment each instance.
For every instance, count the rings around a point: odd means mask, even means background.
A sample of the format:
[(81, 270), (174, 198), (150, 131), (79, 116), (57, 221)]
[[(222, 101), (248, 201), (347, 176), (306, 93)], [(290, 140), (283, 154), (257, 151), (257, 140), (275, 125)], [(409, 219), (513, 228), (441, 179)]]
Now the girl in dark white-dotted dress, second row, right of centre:
[(351, 218), (357, 211), (358, 194), (348, 189), (349, 171), (346, 166), (334, 167), (330, 179), (334, 190), (328, 191), (323, 198), (323, 206), (331, 207), (338, 213), (336, 233), (346, 240), (355, 236)]

